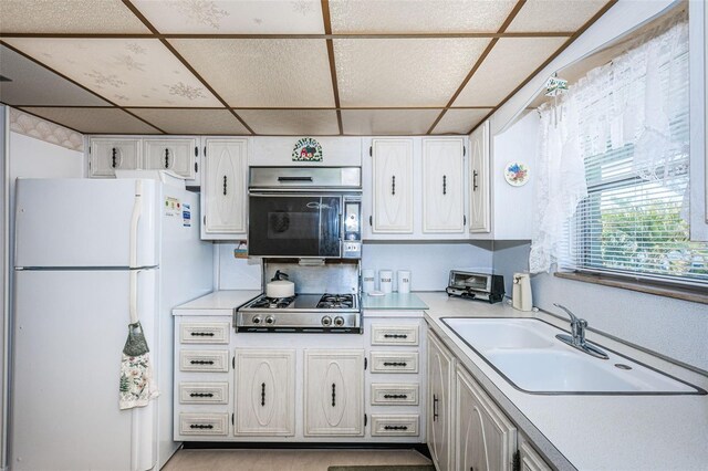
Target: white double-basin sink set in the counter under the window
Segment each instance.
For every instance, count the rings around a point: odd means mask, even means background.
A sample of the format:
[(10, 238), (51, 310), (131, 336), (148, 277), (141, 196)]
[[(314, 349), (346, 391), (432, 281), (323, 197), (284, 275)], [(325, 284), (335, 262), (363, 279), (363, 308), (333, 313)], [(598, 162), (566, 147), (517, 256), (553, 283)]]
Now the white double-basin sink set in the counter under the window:
[(517, 389), (532, 394), (680, 395), (705, 390), (603, 348), (592, 357), (555, 338), (534, 318), (442, 318)]

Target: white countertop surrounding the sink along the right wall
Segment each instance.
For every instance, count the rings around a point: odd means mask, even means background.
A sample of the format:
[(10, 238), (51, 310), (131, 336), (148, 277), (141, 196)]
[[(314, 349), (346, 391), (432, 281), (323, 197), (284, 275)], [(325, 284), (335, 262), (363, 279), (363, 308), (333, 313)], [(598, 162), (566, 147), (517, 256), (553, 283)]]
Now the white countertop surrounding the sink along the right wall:
[[(532, 395), (513, 388), (445, 324), (441, 317), (538, 317), (569, 329), (545, 313), (522, 313), (506, 304), (416, 293), (429, 310), (433, 331), (560, 469), (706, 470), (708, 396)], [(592, 326), (591, 326), (592, 327)], [(589, 332), (587, 339), (708, 389), (708, 378)], [(552, 444), (551, 444), (552, 443)]]

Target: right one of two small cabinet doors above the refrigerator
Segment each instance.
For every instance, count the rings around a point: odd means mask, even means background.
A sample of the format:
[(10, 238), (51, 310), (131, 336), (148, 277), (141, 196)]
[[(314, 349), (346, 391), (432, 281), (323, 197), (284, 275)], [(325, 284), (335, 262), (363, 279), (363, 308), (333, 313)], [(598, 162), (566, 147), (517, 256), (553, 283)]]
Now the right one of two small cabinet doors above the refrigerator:
[(145, 139), (143, 168), (171, 170), (186, 179), (195, 178), (197, 139)]

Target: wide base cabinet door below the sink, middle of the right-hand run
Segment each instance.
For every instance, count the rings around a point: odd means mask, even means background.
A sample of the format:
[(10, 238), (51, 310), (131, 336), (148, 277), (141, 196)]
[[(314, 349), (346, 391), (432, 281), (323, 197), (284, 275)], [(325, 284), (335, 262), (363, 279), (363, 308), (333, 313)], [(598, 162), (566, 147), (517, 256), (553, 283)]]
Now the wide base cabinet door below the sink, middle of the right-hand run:
[(517, 449), (517, 429), (459, 366), (456, 390), (456, 469), (510, 471)]

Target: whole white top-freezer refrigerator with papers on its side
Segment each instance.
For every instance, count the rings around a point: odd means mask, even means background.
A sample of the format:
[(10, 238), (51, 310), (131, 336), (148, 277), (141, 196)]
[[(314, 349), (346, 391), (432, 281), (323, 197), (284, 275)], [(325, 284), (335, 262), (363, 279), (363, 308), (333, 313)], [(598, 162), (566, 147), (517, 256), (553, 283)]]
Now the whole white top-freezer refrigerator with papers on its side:
[[(212, 290), (198, 195), (166, 175), (19, 179), (15, 201), (11, 469), (162, 468), (179, 444), (171, 308)], [(131, 303), (159, 396), (119, 410)]]

